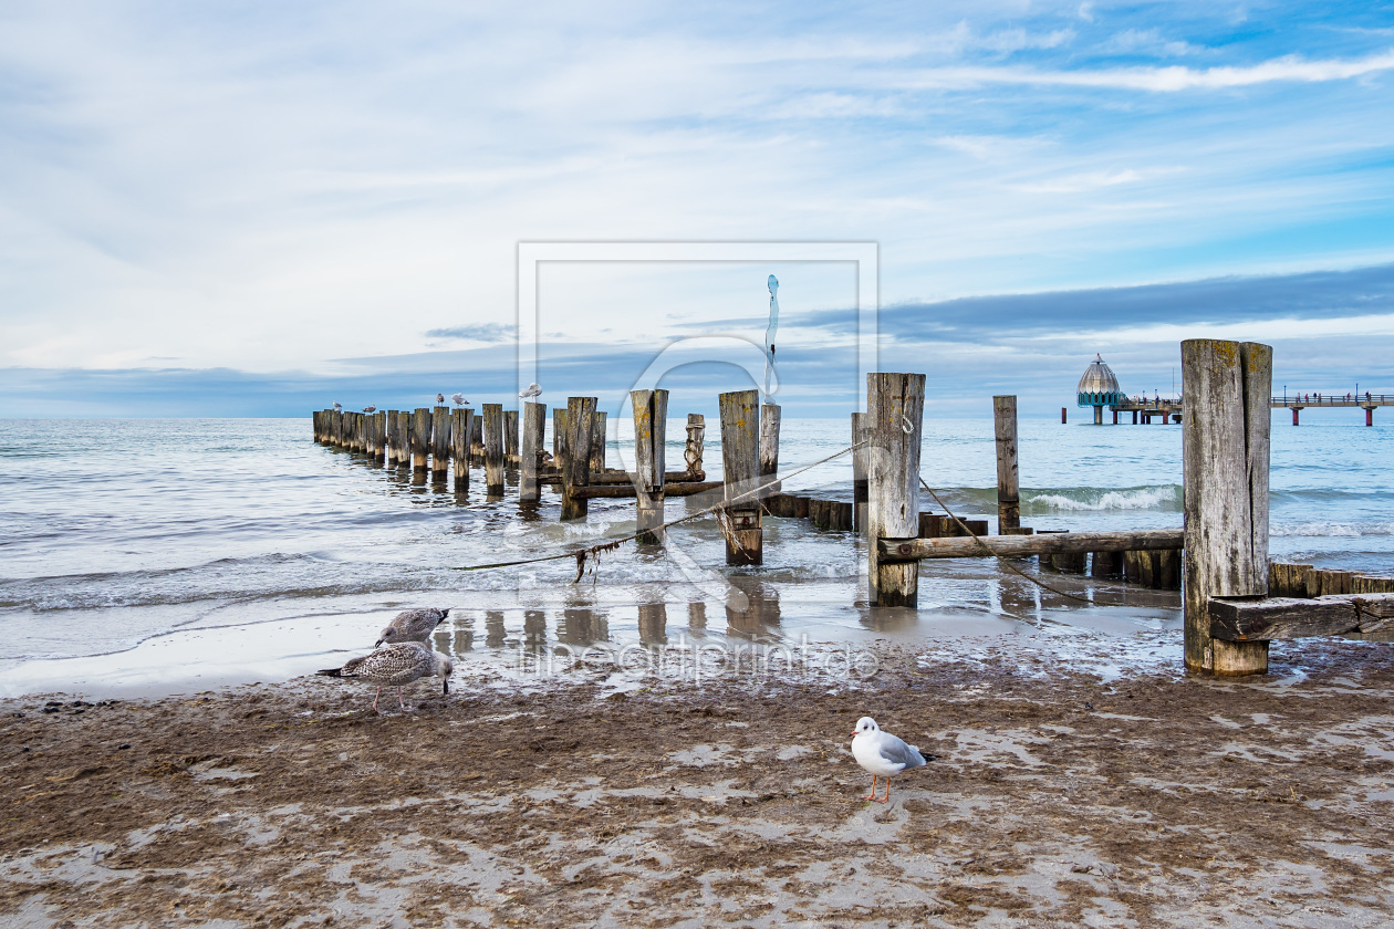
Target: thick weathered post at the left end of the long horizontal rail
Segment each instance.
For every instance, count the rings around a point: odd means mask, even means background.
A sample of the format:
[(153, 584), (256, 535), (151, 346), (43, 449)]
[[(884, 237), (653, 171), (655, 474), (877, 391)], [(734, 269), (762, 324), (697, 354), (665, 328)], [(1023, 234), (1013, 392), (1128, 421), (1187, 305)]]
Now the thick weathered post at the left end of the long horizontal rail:
[(867, 584), (877, 606), (916, 606), (917, 561), (882, 563), (880, 539), (920, 531), (924, 375), (867, 375)]

